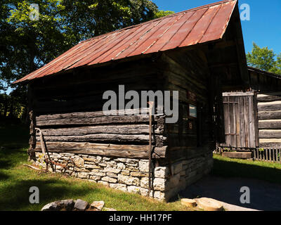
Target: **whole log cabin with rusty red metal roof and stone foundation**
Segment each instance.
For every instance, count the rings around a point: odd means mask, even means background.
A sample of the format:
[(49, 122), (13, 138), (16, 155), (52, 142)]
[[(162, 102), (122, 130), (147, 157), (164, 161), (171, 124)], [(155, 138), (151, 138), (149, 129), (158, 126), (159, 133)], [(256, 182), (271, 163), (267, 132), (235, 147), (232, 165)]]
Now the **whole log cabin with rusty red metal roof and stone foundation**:
[[(28, 84), (35, 163), (46, 155), (56, 172), (167, 200), (210, 171), (221, 94), (247, 79), (237, 1), (220, 1), (81, 41), (15, 83)], [(166, 105), (151, 127), (122, 104), (105, 115), (103, 94), (120, 85), (178, 91), (177, 122), (166, 123)]]

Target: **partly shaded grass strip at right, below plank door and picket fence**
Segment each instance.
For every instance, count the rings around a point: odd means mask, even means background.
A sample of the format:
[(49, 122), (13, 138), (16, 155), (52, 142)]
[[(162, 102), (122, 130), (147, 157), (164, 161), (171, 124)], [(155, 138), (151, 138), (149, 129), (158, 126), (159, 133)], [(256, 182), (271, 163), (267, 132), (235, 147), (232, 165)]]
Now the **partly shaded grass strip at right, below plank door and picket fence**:
[(253, 160), (223, 158), (214, 155), (212, 174), (224, 177), (244, 177), (281, 184), (281, 164)]

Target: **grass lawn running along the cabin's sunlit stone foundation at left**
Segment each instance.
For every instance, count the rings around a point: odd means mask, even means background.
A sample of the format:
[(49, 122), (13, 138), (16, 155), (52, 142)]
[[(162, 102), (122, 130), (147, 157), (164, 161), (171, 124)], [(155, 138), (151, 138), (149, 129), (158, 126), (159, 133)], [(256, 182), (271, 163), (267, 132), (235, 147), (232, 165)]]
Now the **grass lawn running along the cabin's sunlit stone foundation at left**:
[[(89, 203), (103, 200), (105, 207), (116, 210), (190, 210), (179, 200), (163, 203), (90, 181), (34, 171), (22, 165), (27, 163), (27, 142), (26, 127), (0, 127), (0, 210), (41, 210), (55, 200), (77, 198)], [(31, 186), (39, 188), (39, 204), (29, 202)]]

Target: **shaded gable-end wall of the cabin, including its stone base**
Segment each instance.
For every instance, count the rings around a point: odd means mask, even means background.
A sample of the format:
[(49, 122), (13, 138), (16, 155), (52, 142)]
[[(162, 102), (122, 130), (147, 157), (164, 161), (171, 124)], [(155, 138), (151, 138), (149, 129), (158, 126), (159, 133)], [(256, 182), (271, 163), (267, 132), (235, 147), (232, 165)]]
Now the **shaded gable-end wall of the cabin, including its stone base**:
[[(178, 184), (173, 195), (208, 174), (213, 165), (209, 70), (199, 51), (174, 51), (162, 55), (165, 89), (179, 91), (178, 122), (166, 124), (171, 176)], [(208, 94), (209, 93), (209, 94)], [(197, 117), (190, 107), (197, 107)], [(194, 112), (193, 112), (194, 113)]]

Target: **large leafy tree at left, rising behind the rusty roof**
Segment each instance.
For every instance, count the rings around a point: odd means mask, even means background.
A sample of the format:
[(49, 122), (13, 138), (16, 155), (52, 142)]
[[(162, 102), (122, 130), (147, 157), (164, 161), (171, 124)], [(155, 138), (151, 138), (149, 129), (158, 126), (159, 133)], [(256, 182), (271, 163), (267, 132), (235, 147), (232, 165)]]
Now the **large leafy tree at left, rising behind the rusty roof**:
[[(1, 0), (0, 93), (79, 41), (169, 13), (149, 0)], [(26, 92), (16, 89), (14, 95)]]

